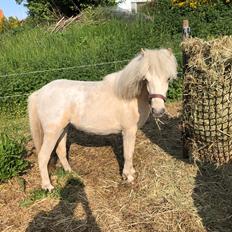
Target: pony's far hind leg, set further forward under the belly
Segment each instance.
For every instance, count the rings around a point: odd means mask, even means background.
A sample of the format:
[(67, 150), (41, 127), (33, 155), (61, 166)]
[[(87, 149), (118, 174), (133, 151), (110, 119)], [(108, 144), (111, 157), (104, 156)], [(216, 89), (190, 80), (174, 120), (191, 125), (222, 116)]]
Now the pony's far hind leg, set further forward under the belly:
[(56, 148), (56, 154), (58, 155), (64, 170), (71, 172), (72, 169), (67, 160), (66, 141), (67, 141), (67, 130), (65, 130), (61, 135), (60, 141)]

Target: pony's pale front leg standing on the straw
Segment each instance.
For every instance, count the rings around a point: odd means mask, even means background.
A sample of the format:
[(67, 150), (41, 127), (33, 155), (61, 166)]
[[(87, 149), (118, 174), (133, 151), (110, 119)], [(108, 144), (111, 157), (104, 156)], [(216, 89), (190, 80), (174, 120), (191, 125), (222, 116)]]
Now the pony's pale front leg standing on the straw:
[(133, 153), (135, 147), (137, 127), (125, 129), (122, 132), (123, 135), (123, 155), (124, 155), (124, 168), (123, 177), (127, 179), (129, 183), (133, 182), (135, 170), (133, 167)]

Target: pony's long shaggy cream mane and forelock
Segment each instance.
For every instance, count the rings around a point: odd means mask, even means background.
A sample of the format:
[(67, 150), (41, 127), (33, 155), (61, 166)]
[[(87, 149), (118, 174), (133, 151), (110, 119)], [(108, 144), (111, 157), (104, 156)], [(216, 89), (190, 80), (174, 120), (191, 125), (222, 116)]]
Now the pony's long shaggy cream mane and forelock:
[(124, 99), (140, 95), (142, 81), (147, 72), (156, 73), (162, 78), (176, 77), (176, 58), (168, 49), (142, 51), (118, 73), (115, 80), (115, 92)]

